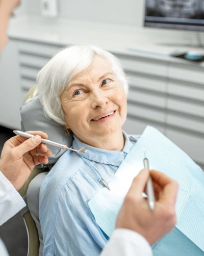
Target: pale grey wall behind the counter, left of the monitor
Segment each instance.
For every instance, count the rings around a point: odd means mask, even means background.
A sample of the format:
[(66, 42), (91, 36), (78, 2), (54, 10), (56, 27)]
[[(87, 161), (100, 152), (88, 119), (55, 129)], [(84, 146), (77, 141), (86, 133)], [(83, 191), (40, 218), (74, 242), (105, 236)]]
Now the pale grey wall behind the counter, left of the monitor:
[[(145, 0), (58, 0), (62, 18), (142, 26)], [(28, 15), (40, 16), (40, 0), (23, 0)]]

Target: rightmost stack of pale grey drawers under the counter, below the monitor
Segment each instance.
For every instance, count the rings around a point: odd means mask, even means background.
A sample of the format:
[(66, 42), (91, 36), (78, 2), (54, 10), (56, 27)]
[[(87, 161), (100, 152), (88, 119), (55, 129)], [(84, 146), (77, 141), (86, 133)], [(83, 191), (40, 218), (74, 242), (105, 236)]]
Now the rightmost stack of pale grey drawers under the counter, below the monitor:
[[(182, 71), (184, 73), (184, 71)], [(181, 75), (183, 74), (181, 72)], [(192, 73), (194, 72), (194, 73)], [(186, 73), (185, 73), (186, 74)], [(167, 137), (196, 162), (204, 163), (204, 84), (172, 78), (168, 86)], [(199, 76), (202, 76), (200, 74)], [(177, 77), (178, 78), (178, 77)], [(193, 78), (195, 83), (192, 82)]]

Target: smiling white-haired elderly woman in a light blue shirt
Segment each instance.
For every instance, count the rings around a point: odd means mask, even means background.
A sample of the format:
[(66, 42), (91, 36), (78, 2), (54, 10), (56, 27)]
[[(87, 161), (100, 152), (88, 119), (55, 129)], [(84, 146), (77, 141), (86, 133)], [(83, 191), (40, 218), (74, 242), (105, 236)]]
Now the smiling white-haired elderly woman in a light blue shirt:
[(88, 202), (102, 188), (109, 189), (137, 142), (122, 131), (128, 91), (124, 72), (109, 52), (73, 46), (45, 65), (38, 84), (45, 114), (73, 133), (74, 149), (88, 148), (82, 156), (65, 152), (41, 186), (43, 253), (98, 255), (108, 237), (94, 220)]

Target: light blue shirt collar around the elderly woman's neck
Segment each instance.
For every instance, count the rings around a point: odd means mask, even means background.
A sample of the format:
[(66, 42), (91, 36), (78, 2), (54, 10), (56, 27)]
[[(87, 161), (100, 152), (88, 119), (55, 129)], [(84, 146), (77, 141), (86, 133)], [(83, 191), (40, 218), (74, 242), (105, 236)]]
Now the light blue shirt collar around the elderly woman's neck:
[(102, 150), (101, 148), (93, 147), (83, 143), (76, 136), (73, 135), (72, 147), (75, 150), (79, 150), (82, 147), (87, 147), (88, 151), (82, 155), (82, 157), (95, 161), (98, 163), (111, 164), (115, 166), (120, 166), (121, 162), (124, 160), (126, 155), (130, 152), (133, 142), (130, 141), (129, 137), (125, 132), (123, 132), (125, 139), (125, 144), (122, 151), (110, 151)]

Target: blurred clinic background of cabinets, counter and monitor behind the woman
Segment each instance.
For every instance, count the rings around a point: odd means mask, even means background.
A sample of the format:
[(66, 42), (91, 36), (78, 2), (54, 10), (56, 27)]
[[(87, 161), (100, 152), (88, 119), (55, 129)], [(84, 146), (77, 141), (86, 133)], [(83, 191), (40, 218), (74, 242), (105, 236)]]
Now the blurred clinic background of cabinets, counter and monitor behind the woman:
[[(0, 20), (3, 1), (12, 0), (0, 0)], [(0, 150), (20, 130), (20, 106), (48, 59), (93, 44), (115, 54), (129, 78), (124, 130), (155, 126), (204, 169), (203, 31), (203, 0), (19, 1), (0, 58)], [(0, 236), (10, 255), (27, 255), (20, 214)]]

